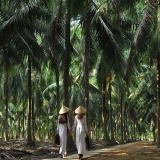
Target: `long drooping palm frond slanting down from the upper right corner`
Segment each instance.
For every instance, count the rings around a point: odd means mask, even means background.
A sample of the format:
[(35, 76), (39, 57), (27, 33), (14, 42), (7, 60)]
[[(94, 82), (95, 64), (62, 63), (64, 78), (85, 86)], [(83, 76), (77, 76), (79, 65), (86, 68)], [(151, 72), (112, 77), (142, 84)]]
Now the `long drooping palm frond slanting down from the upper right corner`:
[(153, 38), (155, 26), (157, 25), (157, 9), (158, 4), (153, 0), (149, 0), (143, 19), (137, 29), (127, 61), (126, 80), (128, 83), (131, 77), (134, 76), (135, 67), (138, 66), (136, 63), (140, 62), (140, 57), (146, 53), (150, 46), (149, 44)]

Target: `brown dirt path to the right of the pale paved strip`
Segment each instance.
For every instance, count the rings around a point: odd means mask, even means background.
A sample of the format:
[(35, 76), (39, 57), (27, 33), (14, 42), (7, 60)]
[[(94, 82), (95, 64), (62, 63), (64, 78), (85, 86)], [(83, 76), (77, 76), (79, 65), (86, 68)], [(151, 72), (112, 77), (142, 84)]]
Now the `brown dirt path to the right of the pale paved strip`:
[(160, 160), (160, 148), (152, 142), (140, 141), (128, 147), (119, 147), (84, 160)]

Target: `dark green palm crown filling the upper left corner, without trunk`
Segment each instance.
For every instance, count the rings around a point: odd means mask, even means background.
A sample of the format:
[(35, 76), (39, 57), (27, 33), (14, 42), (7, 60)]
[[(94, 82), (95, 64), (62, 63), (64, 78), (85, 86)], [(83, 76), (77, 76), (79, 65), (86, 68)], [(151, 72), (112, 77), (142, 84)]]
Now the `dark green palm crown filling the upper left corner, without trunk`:
[(38, 67), (37, 58), (43, 55), (43, 51), (37, 43), (35, 33), (44, 33), (44, 26), (41, 25), (40, 28), (37, 24), (42, 23), (42, 19), (46, 20), (50, 15), (39, 8), (37, 3), (25, 1), (18, 4), (17, 1), (8, 3), (1, 4), (4, 8), (1, 12), (0, 45), (2, 47), (8, 44), (8, 48), (16, 50), (15, 57), (29, 54), (34, 62), (33, 66)]

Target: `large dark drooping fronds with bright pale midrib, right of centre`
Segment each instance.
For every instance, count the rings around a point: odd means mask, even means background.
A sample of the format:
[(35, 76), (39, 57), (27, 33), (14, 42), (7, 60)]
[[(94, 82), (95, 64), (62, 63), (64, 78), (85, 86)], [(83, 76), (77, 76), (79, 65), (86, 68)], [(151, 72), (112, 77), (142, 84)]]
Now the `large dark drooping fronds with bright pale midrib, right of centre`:
[[(106, 6), (103, 6), (108, 9)], [(124, 77), (125, 74), (125, 59), (124, 49), (128, 43), (127, 37), (121, 30), (118, 24), (114, 25), (113, 21), (107, 17), (104, 9), (99, 9), (92, 18), (92, 24), (96, 31), (96, 45), (101, 51), (99, 59), (99, 74), (98, 81), (110, 75), (110, 72), (116, 73), (118, 76)], [(101, 70), (101, 71), (100, 71)], [(99, 86), (101, 82), (99, 82)]]

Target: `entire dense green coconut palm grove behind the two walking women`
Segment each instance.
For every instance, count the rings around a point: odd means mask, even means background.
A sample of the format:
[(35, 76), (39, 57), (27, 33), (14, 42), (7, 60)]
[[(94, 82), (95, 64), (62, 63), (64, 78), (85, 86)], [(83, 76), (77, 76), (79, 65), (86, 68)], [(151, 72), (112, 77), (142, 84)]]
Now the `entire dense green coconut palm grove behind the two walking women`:
[(64, 105), (72, 124), (78, 106), (87, 110), (93, 140), (159, 147), (159, 8), (159, 0), (1, 0), (1, 139), (54, 139)]

